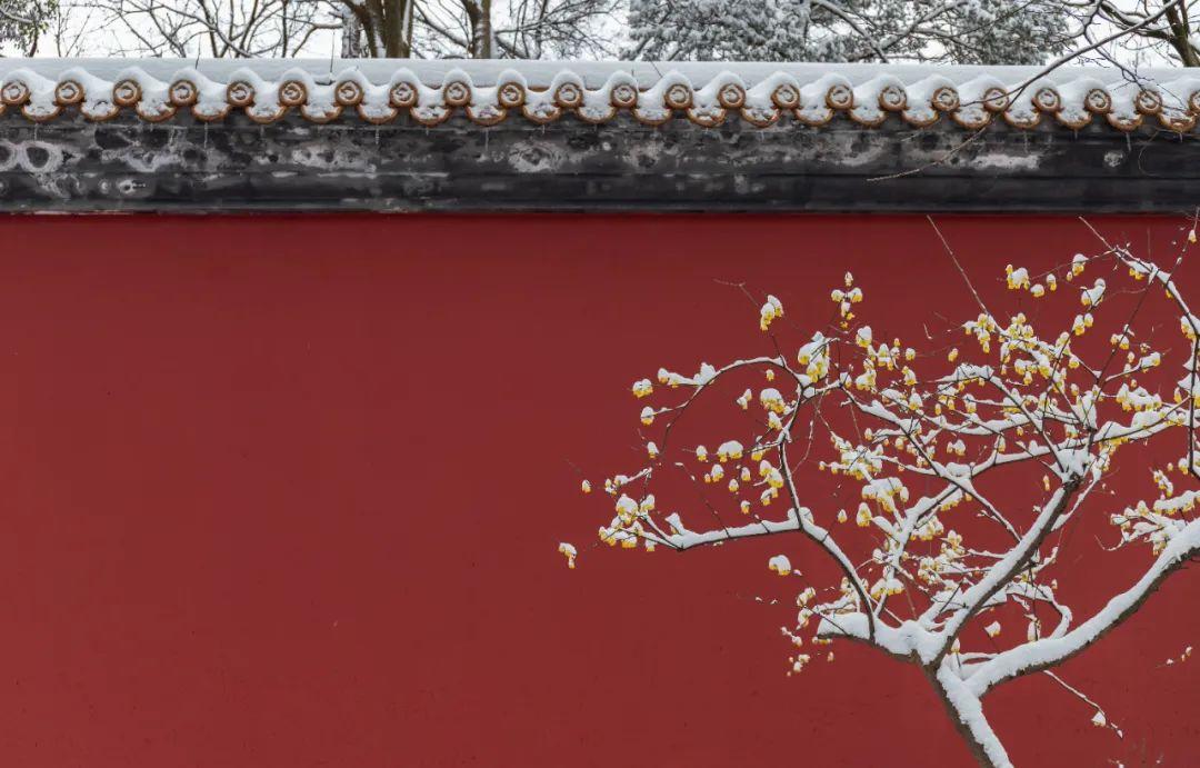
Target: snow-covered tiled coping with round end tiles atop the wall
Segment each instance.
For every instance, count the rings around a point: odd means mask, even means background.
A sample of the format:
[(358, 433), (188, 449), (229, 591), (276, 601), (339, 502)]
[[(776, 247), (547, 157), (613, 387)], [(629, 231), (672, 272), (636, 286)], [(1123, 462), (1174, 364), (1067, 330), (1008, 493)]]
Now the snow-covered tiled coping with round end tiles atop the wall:
[(790, 116), (818, 126), (839, 114), (863, 126), (896, 115), (924, 127), (943, 115), (966, 128), (995, 116), (1032, 128), (1044, 116), (1079, 128), (1096, 118), (1121, 131), (1146, 118), (1175, 131), (1200, 118), (1200, 77), (1117, 70), (767, 62), (406, 61), (176, 59), (0, 59), (0, 112), (50, 120), (68, 107), (91, 120), (124, 108), (166, 120), (190, 108), (200, 120), (241, 109), (256, 122), (298, 110), (328, 122), (354, 109), (383, 124), (406, 112), (437, 125), (462, 112), (494, 125), (510, 112), (534, 122), (570, 113), (605, 122), (623, 112), (660, 125), (684, 115), (701, 126), (736, 113), (766, 127)]

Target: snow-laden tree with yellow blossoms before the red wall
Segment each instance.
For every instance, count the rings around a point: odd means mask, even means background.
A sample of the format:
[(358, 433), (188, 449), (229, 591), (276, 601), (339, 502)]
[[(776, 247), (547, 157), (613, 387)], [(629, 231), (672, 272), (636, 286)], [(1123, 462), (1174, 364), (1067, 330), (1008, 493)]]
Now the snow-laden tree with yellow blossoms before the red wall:
[[(787, 551), (766, 565), (796, 581), (788, 673), (845, 642), (916, 665), (983, 766), (1010, 764), (983, 702), (1025, 676), (1117, 730), (1056, 667), (1200, 554), (1200, 317), (1175, 277), (1194, 224), (1172, 263), (1100, 239), (1050, 271), (1009, 265), (997, 295), (950, 253), (976, 307), (943, 337), (931, 317), (912, 346), (859, 317), (851, 274), (823, 328), (794, 328), (768, 295), (768, 354), (634, 383), (644, 463), (605, 480), (600, 541), (774, 536)], [(696, 437), (709, 448), (683, 444)], [(1086, 521), (1110, 530), (1106, 550), (1139, 553), (1140, 576), (1073, 610), (1063, 592), (1096, 580), (1072, 570), (1084, 545), (1064, 534)], [(559, 551), (575, 568), (576, 547)]]

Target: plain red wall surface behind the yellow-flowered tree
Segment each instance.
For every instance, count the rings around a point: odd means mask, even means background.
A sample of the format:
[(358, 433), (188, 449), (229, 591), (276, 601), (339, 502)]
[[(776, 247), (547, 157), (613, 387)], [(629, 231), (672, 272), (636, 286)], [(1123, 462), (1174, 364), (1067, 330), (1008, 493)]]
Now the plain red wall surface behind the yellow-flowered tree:
[[(1157, 254), (1181, 222), (1094, 223)], [(989, 290), (1008, 262), (1096, 245), (1069, 217), (941, 226)], [(0, 763), (970, 764), (912, 667), (839, 646), (785, 674), (778, 540), (595, 547), (611, 510), (571, 467), (634, 464), (635, 378), (762, 352), (716, 280), (800, 324), (828, 320), (846, 269), (895, 323), (971, 312), (924, 217), (28, 217), (0, 236)], [(1150, 560), (1094, 535), (1082, 614)], [(1200, 629), (1195, 576), (1063, 670), (1123, 740), (1043, 676), (986, 700), (1018, 764), (1200, 764), (1200, 659), (1164, 666)]]

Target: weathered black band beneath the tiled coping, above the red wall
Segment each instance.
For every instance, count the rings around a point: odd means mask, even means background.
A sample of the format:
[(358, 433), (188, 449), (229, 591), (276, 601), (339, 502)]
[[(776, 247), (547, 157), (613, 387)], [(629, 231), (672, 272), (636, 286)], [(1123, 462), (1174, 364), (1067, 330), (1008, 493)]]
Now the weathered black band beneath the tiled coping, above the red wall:
[(703, 128), (458, 115), (270, 128), (132, 114), (0, 115), (0, 211), (1064, 211), (1176, 212), (1200, 184), (1196, 134), (1049, 116), (1032, 130), (949, 119), (865, 128), (740, 119)]

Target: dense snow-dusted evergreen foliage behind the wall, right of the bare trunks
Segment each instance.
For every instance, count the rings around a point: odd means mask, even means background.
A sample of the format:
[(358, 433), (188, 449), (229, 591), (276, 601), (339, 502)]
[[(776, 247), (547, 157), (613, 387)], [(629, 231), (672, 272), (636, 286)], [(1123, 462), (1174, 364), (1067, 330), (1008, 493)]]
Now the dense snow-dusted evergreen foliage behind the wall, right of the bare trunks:
[(630, 0), (643, 59), (1042, 64), (1069, 16), (1045, 0)]

